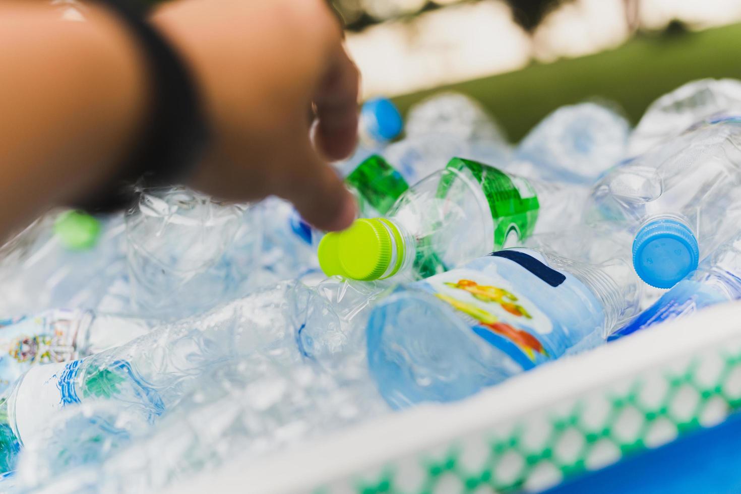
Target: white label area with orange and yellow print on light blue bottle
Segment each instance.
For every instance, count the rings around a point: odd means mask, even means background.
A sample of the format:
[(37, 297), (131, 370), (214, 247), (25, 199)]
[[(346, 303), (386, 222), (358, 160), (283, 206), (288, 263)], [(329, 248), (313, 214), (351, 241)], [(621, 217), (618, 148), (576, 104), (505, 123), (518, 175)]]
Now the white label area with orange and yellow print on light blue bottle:
[[(522, 276), (540, 282), (526, 268)], [(551, 318), (496, 271), (456, 269), (419, 283), (456, 310), (476, 335), (510, 356), (523, 370), (554, 357), (542, 342), (543, 336), (554, 331)]]

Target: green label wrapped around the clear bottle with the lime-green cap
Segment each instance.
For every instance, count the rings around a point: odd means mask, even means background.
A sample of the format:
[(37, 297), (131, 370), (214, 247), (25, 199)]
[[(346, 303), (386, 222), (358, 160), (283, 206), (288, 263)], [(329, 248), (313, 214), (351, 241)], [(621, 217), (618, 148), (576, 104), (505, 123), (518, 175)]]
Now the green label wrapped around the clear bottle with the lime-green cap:
[[(453, 158), (448, 170), (468, 171), (481, 185), (494, 219), (494, 245), (498, 248), (508, 244), (508, 238), (516, 236), (523, 241), (531, 236), (538, 219), (539, 202), (535, 189), (525, 178), (509, 176), (494, 167), (463, 158)], [(444, 176), (438, 195), (447, 194), (456, 176)]]

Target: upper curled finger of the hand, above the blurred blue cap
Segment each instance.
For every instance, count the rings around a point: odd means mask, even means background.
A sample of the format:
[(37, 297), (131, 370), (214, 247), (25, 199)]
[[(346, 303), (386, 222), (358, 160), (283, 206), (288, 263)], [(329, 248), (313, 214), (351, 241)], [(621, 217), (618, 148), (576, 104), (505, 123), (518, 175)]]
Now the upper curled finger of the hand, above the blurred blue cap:
[(313, 140), (330, 160), (347, 158), (353, 152), (358, 136), (358, 93), (360, 75), (339, 42), (328, 73), (314, 97), (316, 126)]

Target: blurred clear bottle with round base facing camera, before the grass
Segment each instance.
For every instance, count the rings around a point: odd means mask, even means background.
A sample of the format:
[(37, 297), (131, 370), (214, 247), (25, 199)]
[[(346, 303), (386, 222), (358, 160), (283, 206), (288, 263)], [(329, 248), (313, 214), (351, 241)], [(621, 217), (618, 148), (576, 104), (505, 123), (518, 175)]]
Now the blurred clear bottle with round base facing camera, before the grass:
[(508, 170), (591, 185), (625, 158), (629, 131), (627, 120), (601, 104), (560, 107), (522, 139)]

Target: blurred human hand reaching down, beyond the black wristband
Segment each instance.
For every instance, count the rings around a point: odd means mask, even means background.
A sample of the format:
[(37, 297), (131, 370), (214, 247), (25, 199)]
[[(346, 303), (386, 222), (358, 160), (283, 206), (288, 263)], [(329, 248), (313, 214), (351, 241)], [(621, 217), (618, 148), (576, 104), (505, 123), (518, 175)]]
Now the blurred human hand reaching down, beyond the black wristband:
[(152, 20), (190, 64), (212, 131), (190, 184), (275, 194), (316, 227), (348, 227), (356, 206), (326, 161), (355, 147), (359, 75), (325, 1), (179, 0)]

